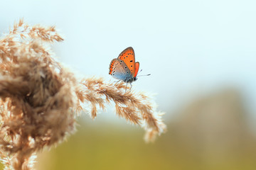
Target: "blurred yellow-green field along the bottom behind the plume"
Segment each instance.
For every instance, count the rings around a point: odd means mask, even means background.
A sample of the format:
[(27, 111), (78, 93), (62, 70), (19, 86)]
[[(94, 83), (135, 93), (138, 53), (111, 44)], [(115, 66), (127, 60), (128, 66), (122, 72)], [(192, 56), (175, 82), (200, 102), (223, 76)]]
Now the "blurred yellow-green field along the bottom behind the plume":
[(169, 132), (154, 144), (145, 144), (143, 135), (143, 130), (130, 125), (82, 125), (68, 142), (43, 152), (38, 158), (38, 169), (253, 170), (256, 167), (255, 144), (241, 144), (242, 148), (229, 153), (204, 152), (203, 144), (182, 141), (170, 124)]

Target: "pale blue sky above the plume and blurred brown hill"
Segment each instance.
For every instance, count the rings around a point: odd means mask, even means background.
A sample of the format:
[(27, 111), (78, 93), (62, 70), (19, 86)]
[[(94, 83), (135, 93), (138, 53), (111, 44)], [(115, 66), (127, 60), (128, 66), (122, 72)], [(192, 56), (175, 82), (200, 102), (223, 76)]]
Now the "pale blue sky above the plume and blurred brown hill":
[[(256, 120), (256, 1), (1, 1), (0, 33), (14, 21), (55, 25), (65, 66), (104, 77), (110, 61), (134, 47), (141, 74), (136, 91), (175, 111), (201, 94), (234, 87)], [(167, 115), (168, 117), (168, 115)]]

